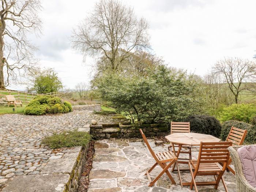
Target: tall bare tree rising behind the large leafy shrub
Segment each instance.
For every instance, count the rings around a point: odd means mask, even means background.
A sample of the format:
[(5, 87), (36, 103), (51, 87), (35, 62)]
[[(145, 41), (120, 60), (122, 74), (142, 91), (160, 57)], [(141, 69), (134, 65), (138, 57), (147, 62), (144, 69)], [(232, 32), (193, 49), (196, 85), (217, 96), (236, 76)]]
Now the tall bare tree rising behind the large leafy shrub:
[(133, 8), (118, 0), (100, 0), (94, 11), (74, 30), (73, 48), (84, 54), (104, 56), (116, 71), (129, 56), (150, 48), (148, 23), (137, 19)]

